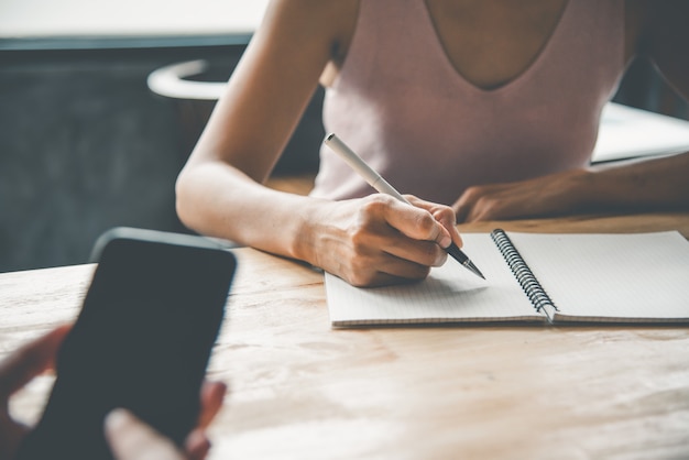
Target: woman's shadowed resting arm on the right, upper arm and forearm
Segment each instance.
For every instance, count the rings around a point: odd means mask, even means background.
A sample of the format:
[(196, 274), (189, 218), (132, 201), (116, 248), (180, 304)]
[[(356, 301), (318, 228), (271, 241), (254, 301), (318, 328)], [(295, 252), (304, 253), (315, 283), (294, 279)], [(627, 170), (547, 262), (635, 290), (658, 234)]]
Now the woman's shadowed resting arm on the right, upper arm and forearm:
[[(689, 100), (689, 2), (627, 4), (628, 55), (650, 59)], [(458, 221), (589, 211), (689, 209), (689, 152), (620, 162), (508, 184), (471, 187), (453, 205)]]

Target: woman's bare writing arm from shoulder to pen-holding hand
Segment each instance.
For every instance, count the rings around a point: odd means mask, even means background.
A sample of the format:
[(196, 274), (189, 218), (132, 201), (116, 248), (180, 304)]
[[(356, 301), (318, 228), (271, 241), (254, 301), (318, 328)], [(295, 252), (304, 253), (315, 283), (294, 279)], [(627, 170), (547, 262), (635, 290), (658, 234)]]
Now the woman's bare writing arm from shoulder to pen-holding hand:
[(208, 236), (300, 259), (357, 285), (422, 278), (461, 240), (450, 208), (384, 196), (333, 202), (262, 184), (319, 77), (341, 62), (354, 0), (276, 0), (177, 184), (177, 212)]

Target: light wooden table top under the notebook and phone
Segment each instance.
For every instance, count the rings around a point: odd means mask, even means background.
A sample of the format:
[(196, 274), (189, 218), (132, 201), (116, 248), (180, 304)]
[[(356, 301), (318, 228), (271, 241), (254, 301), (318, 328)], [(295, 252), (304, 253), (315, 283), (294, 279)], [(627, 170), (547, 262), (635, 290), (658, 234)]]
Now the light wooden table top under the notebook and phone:
[[(461, 226), (678, 229), (689, 215)], [(211, 458), (689, 458), (689, 328), (330, 328), (322, 275), (251, 249), (211, 377), (230, 384)], [(78, 311), (92, 265), (0, 275), (0, 352)], [(688, 306), (689, 308), (689, 306)], [(32, 419), (52, 377), (12, 403)]]

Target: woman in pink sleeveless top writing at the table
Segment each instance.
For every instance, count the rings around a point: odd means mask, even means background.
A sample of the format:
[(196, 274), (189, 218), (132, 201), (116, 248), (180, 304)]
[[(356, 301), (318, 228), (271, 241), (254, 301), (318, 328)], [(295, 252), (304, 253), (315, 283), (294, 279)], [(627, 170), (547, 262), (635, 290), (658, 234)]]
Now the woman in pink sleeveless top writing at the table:
[[(689, 208), (689, 155), (587, 167), (634, 56), (689, 95), (687, 17), (680, 1), (275, 0), (178, 177), (178, 215), (370, 286), (425, 277), (461, 245), (456, 221)], [(310, 196), (262, 185), (319, 84), (326, 130), (414, 207), (326, 150)]]

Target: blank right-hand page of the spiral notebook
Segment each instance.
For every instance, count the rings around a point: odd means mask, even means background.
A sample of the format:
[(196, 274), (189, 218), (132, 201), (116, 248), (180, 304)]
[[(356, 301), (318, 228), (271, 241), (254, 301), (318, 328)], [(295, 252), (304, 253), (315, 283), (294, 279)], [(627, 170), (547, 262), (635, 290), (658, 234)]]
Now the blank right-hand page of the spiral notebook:
[(689, 319), (689, 242), (678, 232), (508, 236), (558, 316)]

